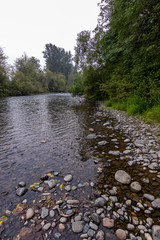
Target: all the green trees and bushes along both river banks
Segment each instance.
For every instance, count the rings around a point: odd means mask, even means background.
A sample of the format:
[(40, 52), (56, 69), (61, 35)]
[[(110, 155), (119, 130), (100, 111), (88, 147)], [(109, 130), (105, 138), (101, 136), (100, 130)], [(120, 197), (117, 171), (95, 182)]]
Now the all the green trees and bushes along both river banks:
[(0, 96), (70, 91), (160, 122), (159, 0), (101, 0), (99, 9), (96, 28), (77, 34), (73, 58), (46, 44), (43, 70), (26, 54), (8, 66), (0, 48)]

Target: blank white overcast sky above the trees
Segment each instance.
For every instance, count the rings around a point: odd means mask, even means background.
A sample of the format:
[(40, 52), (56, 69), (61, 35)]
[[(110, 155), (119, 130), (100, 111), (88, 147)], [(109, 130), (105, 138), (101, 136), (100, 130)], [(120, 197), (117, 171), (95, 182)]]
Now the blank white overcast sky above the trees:
[(77, 34), (93, 30), (100, 0), (0, 0), (0, 47), (13, 63), (25, 52), (44, 65), (52, 43), (74, 54)]

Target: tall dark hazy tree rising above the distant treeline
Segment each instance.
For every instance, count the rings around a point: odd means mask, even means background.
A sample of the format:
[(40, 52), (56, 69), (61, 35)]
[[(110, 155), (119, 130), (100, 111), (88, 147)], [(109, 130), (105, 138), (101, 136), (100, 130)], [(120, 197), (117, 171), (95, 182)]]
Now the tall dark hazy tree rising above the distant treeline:
[(46, 61), (46, 68), (53, 73), (62, 73), (68, 80), (69, 74), (72, 71), (72, 55), (71, 52), (66, 52), (63, 48), (55, 45), (46, 44), (43, 56)]

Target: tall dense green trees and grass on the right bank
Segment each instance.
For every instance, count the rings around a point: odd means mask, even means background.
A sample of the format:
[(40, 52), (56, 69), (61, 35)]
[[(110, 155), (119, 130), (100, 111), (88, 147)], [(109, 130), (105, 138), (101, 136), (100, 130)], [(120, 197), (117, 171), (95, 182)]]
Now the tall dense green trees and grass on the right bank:
[(97, 27), (78, 34), (71, 91), (160, 122), (160, 2), (101, 0)]

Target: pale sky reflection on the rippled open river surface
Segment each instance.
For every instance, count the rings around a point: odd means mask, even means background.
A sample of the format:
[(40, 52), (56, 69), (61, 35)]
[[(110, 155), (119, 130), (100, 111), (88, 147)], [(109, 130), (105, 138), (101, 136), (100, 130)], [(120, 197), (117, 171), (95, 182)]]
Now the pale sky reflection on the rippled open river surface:
[[(59, 171), (63, 166), (64, 174), (75, 169), (82, 171), (80, 139), (89, 127), (93, 109), (94, 106), (80, 104), (70, 94), (0, 99), (2, 201), (9, 203), (16, 198), (15, 186), (19, 181), (28, 186), (47, 170)], [(4, 196), (4, 192), (8, 195)]]

